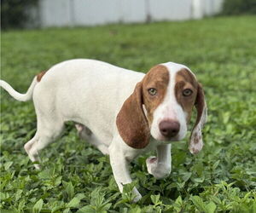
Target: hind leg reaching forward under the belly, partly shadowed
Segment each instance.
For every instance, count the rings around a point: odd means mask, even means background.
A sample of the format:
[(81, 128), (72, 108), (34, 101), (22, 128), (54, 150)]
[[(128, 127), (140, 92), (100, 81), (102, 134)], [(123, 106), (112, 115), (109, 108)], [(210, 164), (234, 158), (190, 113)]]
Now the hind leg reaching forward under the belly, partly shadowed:
[(102, 141), (98, 140), (96, 135), (94, 135), (89, 128), (83, 124), (75, 124), (75, 126), (81, 139), (88, 141), (91, 145), (97, 147), (103, 154), (108, 154), (108, 147), (102, 143)]

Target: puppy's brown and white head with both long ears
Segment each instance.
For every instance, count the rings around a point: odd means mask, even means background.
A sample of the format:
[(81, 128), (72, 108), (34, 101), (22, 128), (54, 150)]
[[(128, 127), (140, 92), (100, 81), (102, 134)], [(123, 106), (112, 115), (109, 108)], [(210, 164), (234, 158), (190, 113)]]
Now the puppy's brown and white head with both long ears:
[(154, 66), (137, 83), (116, 119), (119, 135), (133, 148), (157, 141), (180, 141), (187, 132), (193, 107), (197, 111), (189, 151), (203, 146), (201, 129), (207, 120), (207, 104), (201, 84), (187, 66), (168, 62)]

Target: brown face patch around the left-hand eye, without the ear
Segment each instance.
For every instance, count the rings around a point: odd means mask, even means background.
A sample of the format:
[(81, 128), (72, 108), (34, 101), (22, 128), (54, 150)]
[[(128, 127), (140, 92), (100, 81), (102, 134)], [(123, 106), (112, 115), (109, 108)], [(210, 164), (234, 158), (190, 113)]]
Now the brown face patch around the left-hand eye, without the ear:
[[(152, 124), (153, 113), (166, 96), (167, 86), (170, 82), (169, 71), (166, 66), (154, 66), (143, 78), (143, 103), (147, 110), (148, 123)], [(150, 95), (148, 89), (156, 89), (155, 95)]]

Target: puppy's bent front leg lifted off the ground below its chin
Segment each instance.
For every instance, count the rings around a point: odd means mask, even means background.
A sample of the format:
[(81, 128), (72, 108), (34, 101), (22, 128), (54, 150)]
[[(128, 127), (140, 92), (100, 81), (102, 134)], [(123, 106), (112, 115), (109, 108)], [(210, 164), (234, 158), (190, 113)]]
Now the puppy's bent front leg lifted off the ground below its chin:
[(156, 179), (169, 176), (172, 170), (171, 144), (157, 147), (157, 158), (149, 157), (146, 161), (148, 173)]

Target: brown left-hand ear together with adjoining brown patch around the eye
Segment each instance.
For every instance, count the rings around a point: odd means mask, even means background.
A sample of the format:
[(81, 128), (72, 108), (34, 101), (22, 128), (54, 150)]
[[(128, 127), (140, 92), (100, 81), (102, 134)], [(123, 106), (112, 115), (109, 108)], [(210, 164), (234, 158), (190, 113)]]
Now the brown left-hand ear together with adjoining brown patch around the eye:
[[(168, 83), (169, 72), (166, 66), (154, 66), (143, 80), (137, 83), (133, 93), (124, 102), (117, 115), (116, 124), (119, 135), (128, 146), (147, 147), (153, 112), (164, 100)], [(155, 95), (149, 94), (148, 89), (151, 88), (156, 89)], [(147, 118), (143, 111), (143, 104), (147, 110)]]

